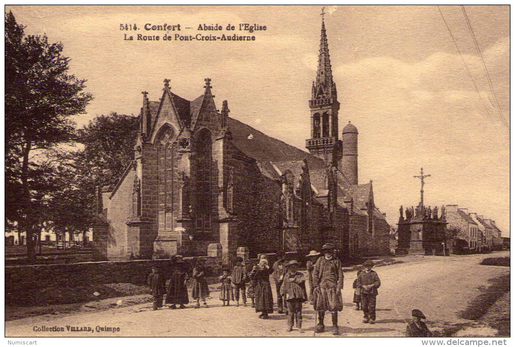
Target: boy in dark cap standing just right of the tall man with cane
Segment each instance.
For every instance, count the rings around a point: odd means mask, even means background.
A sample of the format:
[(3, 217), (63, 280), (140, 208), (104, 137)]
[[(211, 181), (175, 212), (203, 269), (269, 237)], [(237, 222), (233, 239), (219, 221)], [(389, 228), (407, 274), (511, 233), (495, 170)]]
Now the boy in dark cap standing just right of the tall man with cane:
[(363, 263), (363, 270), (357, 277), (356, 286), (361, 288), (361, 308), (363, 309), (363, 323), (375, 323), (375, 302), (377, 288), (381, 286), (381, 281), (377, 273), (372, 270), (374, 263), (366, 261)]

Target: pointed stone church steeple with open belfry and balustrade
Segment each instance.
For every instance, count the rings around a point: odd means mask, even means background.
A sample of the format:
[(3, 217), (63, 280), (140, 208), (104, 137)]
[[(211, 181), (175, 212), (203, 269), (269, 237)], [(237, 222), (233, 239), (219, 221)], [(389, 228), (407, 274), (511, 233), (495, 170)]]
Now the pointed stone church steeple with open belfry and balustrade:
[(313, 81), (310, 100), (311, 138), (306, 140), (306, 148), (327, 164), (337, 165), (341, 159), (341, 141), (338, 139), (340, 103), (337, 100), (336, 84), (331, 71), (329, 44), (323, 14), (322, 9), (318, 69), (316, 79)]

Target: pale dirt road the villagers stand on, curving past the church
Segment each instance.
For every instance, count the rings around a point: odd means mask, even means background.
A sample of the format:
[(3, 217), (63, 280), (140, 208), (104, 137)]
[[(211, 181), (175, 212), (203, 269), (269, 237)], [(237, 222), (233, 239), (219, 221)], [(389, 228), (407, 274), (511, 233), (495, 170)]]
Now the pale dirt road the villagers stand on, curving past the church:
[[(377, 297), (375, 325), (363, 324), (362, 311), (354, 310), (352, 282), (356, 274), (346, 272), (342, 290), (344, 310), (338, 315), (341, 336), (404, 336), (404, 319), (409, 319), (413, 308), (423, 311), (431, 329), (467, 323), (467, 320), (457, 318), (457, 313), (477, 296), (477, 287), (488, 286), (488, 279), (509, 273), (509, 267), (479, 265), (481, 259), (491, 256), (509, 256), (509, 252), (449, 257), (410, 256), (399, 258), (404, 262), (401, 264), (376, 267), (374, 270), (382, 284)], [(6, 322), (5, 334), (7, 337), (313, 336), (315, 313), (307, 303), (303, 310), (305, 333), (300, 334), (296, 330), (285, 331), (285, 315), (272, 314), (268, 320), (258, 319), (259, 314), (250, 305), (222, 307), (218, 293), (214, 293), (214, 297), (208, 300), (208, 308), (200, 309), (152, 311), (151, 304), (139, 304), (56, 319), (20, 319)], [(330, 320), (326, 317), (327, 326), (331, 325)], [(72, 332), (67, 326), (91, 327), (92, 332)], [(35, 331), (41, 327), (62, 327), (64, 331)], [(118, 327), (119, 331), (98, 332), (97, 327)], [(485, 332), (495, 333), (493, 329)], [(329, 337), (332, 334), (328, 331), (317, 336)]]

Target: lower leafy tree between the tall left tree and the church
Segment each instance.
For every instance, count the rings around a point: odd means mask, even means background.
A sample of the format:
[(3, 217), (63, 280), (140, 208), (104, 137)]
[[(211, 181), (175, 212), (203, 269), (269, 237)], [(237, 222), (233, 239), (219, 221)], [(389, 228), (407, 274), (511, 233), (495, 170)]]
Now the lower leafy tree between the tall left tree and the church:
[(94, 222), (95, 190), (114, 185), (134, 160), (138, 117), (100, 115), (77, 131), (77, 148), (54, 151), (59, 172), (49, 197), (48, 225), (56, 233), (85, 234)]

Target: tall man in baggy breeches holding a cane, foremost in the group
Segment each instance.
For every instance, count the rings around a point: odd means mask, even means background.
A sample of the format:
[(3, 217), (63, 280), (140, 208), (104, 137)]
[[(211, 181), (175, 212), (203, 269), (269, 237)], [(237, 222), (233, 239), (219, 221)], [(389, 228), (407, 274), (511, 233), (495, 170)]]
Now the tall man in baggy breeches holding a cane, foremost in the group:
[(319, 257), (313, 270), (313, 308), (318, 313), (318, 324), (315, 332), (324, 331), (325, 311), (331, 311), (333, 320), (333, 335), (339, 335), (338, 311), (344, 309), (341, 298), (341, 289), (344, 287), (344, 272), (341, 270), (341, 262), (334, 255), (334, 246), (325, 244), (322, 246), (323, 256)]

